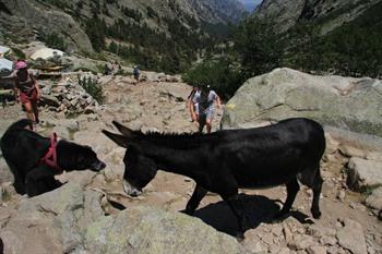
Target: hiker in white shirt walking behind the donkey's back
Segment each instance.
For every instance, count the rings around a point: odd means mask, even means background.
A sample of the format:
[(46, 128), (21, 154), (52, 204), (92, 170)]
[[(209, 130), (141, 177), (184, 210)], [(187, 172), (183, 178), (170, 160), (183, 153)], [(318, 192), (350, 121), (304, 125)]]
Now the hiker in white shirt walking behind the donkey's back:
[(195, 95), (195, 101), (198, 102), (199, 111), (199, 132), (202, 133), (204, 125), (206, 125), (207, 133), (211, 133), (214, 119), (214, 102), (216, 101), (217, 107), (220, 108), (220, 97), (207, 85), (206, 88), (201, 89), (199, 95)]

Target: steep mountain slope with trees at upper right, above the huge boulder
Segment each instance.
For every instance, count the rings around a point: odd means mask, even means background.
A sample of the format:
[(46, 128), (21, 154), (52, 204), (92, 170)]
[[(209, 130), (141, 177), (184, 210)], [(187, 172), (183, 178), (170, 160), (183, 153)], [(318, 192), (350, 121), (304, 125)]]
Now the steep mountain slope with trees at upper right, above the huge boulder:
[(380, 78), (381, 13), (382, 0), (265, 0), (236, 45), (249, 76), (288, 66)]

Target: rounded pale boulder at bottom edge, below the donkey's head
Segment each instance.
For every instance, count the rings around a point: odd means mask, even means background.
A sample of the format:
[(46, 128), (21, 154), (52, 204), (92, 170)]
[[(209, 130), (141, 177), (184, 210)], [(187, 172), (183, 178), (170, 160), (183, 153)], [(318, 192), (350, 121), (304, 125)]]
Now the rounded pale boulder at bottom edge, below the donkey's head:
[(144, 206), (129, 207), (89, 226), (85, 245), (93, 254), (244, 253), (235, 238), (199, 219)]

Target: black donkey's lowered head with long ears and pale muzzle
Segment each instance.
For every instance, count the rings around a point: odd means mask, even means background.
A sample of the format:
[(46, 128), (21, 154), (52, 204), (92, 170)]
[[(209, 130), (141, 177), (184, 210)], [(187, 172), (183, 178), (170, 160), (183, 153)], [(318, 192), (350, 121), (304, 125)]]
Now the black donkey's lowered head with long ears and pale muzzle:
[(156, 164), (142, 153), (144, 147), (139, 144), (142, 133), (134, 132), (118, 122), (114, 121), (112, 123), (121, 134), (105, 130), (103, 133), (119, 146), (128, 148), (123, 158), (123, 190), (130, 196), (138, 196), (142, 193), (142, 189), (154, 179), (157, 172)]

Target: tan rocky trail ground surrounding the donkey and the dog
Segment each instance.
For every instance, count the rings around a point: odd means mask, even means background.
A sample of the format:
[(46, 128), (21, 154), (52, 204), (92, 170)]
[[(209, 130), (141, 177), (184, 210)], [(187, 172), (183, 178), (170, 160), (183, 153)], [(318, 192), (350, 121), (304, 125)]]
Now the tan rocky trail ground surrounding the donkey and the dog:
[[(58, 81), (65, 82), (69, 80)], [(56, 131), (62, 138), (92, 146), (107, 164), (103, 172), (63, 173), (58, 179), (68, 183), (60, 190), (26, 198), (14, 193), (11, 178), (5, 173), (7, 165), (0, 157), (0, 238), (4, 242), (4, 253), (25, 253), (23, 250), (26, 246), (31, 246), (28, 253), (36, 254), (118, 253), (118, 250), (120, 253), (382, 253), (382, 221), (378, 218), (381, 214), (365, 205), (367, 194), (347, 188), (346, 164), (349, 158), (331, 143), (327, 144), (321, 166), (324, 178), (320, 203), (322, 218), (312, 219), (311, 191), (302, 185), (290, 216), (282, 221), (272, 221), (272, 216), (286, 198), (284, 186), (241, 190), (250, 228), (246, 232), (246, 240), (240, 243), (229, 237), (235, 234), (236, 218), (219, 196), (208, 193), (193, 218), (179, 213), (192, 194), (194, 182), (191, 179), (159, 171), (140, 197), (128, 197), (121, 184), (124, 148), (117, 147), (100, 131), (114, 130), (111, 121), (117, 120), (143, 132), (195, 132), (198, 126), (190, 122), (186, 109), (191, 88), (179, 82), (147, 80), (135, 84), (130, 76), (100, 76), (98, 82), (106, 96), (103, 106), (94, 112), (71, 118), (45, 107), (41, 109), (43, 123), (36, 131), (44, 135)], [(0, 134), (11, 122), (23, 117), (20, 105), (1, 108)], [(219, 126), (220, 118), (222, 111), (218, 111), (213, 123), (214, 130)], [(70, 198), (63, 198), (64, 194)], [(61, 208), (60, 205), (64, 204), (68, 206)], [(23, 214), (25, 211), (27, 214)], [(171, 216), (176, 219), (169, 219)], [(133, 227), (138, 223), (133, 221), (141, 221), (136, 226), (140, 230), (135, 232), (134, 228), (129, 228), (134, 237), (127, 237), (128, 243), (120, 240), (122, 242), (118, 245), (116, 239), (123, 239), (127, 232), (112, 230), (122, 225)], [(177, 221), (181, 221), (180, 226), (184, 225), (184, 228), (189, 223), (194, 228), (183, 232)], [(57, 227), (56, 231), (51, 226)], [(154, 232), (156, 230), (159, 231), (157, 234)], [(212, 232), (216, 230), (224, 235), (218, 234), (210, 241)], [(110, 237), (111, 232), (116, 233), (114, 238)], [(104, 237), (107, 241), (102, 240)], [(160, 239), (158, 241), (163, 245), (154, 246), (154, 243), (142, 240), (150, 238), (153, 242)], [(194, 241), (190, 243), (184, 240), (186, 245), (177, 243), (183, 238)], [(176, 247), (177, 244), (180, 246)]]

